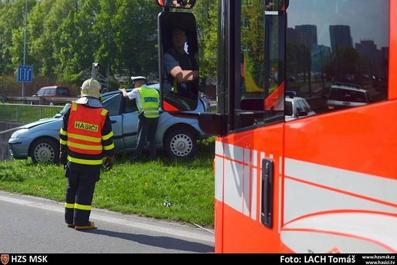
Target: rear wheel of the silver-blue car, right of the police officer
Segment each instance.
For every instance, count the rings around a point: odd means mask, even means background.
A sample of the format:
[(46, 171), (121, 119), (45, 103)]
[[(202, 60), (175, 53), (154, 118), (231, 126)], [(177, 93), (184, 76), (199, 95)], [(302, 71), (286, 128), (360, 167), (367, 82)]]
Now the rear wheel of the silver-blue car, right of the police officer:
[(176, 130), (167, 134), (164, 147), (171, 157), (192, 157), (196, 152), (196, 137), (189, 130)]

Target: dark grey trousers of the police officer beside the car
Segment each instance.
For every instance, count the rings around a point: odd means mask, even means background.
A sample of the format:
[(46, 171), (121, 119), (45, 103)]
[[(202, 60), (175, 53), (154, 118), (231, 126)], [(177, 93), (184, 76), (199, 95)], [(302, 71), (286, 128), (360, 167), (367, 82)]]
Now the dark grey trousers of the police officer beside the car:
[(156, 135), (158, 118), (146, 118), (139, 115), (138, 136), (136, 138), (136, 149), (132, 160), (137, 160), (142, 155), (146, 140), (149, 141), (150, 159), (156, 159), (156, 145), (154, 136)]

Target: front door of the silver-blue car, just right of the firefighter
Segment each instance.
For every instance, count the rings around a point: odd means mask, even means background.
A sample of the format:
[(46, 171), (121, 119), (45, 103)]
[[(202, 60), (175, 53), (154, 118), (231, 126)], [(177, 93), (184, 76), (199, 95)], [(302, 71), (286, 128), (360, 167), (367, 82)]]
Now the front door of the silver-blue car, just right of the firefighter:
[(109, 118), (112, 122), (113, 142), (115, 144), (115, 151), (121, 152), (124, 150), (123, 141), (123, 123), (121, 114), (121, 93), (113, 94), (107, 97), (103, 102), (103, 108), (109, 111)]

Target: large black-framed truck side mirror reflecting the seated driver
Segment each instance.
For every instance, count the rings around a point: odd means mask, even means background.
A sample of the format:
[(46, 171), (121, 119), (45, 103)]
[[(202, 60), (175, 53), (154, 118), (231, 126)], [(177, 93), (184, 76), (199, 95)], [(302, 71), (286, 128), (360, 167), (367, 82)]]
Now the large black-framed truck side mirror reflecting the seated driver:
[(199, 49), (195, 16), (187, 12), (160, 13), (158, 42), (163, 110), (195, 110), (199, 101)]

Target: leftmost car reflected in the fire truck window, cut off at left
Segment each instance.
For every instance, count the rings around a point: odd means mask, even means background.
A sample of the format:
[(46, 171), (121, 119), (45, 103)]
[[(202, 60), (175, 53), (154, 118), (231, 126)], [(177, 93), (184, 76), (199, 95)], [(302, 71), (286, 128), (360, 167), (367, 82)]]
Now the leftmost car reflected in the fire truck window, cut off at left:
[[(296, 93), (295, 93), (296, 94)], [(316, 115), (306, 99), (301, 97), (290, 96), (285, 97), (285, 121), (293, 121), (296, 119)]]

